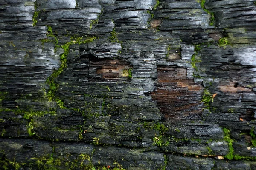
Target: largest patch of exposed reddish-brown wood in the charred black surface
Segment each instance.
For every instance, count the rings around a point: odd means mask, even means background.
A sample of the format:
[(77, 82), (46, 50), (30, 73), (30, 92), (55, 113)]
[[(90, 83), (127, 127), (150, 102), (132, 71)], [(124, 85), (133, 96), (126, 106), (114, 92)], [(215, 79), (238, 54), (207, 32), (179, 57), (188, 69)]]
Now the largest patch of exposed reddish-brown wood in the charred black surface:
[(203, 87), (186, 79), (186, 68), (157, 67), (157, 91), (151, 93), (166, 120), (201, 119)]

